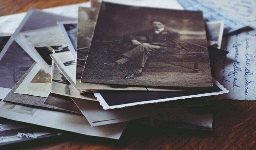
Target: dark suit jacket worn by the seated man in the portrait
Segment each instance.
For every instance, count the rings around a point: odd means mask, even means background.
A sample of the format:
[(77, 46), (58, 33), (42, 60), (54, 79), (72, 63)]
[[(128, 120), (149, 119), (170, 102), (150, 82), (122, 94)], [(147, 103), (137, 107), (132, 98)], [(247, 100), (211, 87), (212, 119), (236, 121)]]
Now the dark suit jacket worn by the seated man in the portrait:
[(158, 45), (163, 48), (180, 48), (180, 46), (178, 45), (180, 40), (180, 34), (178, 32), (171, 31), (165, 28), (163, 31), (156, 34), (156, 37), (154, 38), (155, 40), (153, 40), (154, 33), (154, 29), (141, 30), (139, 32), (124, 35), (124, 39), (130, 42), (131, 40), (137, 40), (136, 36), (144, 36), (146, 37), (146, 42), (150, 43), (151, 45)]

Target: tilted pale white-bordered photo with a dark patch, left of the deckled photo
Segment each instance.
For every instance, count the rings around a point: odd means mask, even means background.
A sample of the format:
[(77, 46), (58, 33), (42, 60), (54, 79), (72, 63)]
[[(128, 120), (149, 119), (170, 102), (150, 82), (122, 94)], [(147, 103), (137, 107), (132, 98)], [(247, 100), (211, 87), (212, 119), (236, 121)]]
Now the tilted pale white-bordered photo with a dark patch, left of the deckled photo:
[(51, 73), (50, 54), (69, 51), (58, 26), (29, 30), (13, 34), (14, 40), (48, 73)]

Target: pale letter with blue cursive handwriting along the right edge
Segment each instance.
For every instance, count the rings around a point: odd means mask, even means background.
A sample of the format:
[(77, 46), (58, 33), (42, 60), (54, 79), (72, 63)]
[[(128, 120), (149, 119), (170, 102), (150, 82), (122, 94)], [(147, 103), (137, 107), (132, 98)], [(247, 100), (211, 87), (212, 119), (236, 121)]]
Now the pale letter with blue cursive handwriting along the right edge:
[(229, 51), (217, 66), (216, 79), (230, 93), (219, 99), (256, 100), (256, 1), (254, 0), (200, 0), (208, 6), (245, 20), (251, 30), (243, 29), (224, 37), (222, 49)]

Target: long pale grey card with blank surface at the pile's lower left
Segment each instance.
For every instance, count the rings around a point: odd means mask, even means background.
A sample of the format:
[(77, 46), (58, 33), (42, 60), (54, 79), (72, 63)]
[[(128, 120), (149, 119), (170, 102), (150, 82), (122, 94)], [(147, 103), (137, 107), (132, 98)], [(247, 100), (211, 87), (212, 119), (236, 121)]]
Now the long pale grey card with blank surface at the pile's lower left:
[(0, 117), (50, 128), (119, 139), (127, 123), (91, 127), (83, 115), (0, 102)]

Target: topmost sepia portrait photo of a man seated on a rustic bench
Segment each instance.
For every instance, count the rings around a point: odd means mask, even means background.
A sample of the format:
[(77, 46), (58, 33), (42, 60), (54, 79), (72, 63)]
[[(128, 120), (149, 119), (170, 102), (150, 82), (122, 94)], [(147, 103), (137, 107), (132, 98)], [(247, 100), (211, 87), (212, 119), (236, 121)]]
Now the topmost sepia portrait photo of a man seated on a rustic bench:
[(202, 12), (103, 2), (81, 82), (213, 86)]

